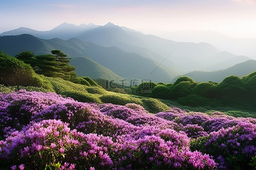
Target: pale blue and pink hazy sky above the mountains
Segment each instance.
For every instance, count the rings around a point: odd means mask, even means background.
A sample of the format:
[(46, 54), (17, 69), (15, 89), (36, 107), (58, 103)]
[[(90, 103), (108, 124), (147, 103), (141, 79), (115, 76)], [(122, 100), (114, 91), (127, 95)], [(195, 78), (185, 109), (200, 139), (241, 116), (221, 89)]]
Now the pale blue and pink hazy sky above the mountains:
[(61, 23), (112, 22), (152, 35), (218, 31), (256, 38), (256, 0), (1, 0), (0, 33), (50, 30)]

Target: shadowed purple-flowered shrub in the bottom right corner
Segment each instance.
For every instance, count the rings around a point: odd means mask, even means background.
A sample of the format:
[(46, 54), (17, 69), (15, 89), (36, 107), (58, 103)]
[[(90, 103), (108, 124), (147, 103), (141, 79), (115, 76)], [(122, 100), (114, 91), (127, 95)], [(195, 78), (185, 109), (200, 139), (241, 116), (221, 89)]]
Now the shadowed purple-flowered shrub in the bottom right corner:
[(217, 159), (219, 169), (249, 169), (251, 157), (256, 155), (256, 125), (239, 122), (236, 126), (210, 133), (209, 137), (191, 142), (191, 148)]

